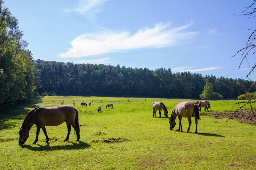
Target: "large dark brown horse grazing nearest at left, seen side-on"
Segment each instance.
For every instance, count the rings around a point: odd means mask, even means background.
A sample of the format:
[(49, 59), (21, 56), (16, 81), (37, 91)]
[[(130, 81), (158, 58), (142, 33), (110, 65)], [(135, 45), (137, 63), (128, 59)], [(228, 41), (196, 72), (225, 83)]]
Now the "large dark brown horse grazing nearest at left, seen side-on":
[(47, 136), (45, 126), (58, 126), (63, 122), (66, 122), (68, 128), (68, 135), (64, 141), (68, 141), (71, 125), (76, 130), (76, 141), (79, 141), (80, 127), (78, 121), (78, 111), (76, 108), (68, 105), (55, 107), (36, 107), (26, 115), (22, 123), (19, 132), (19, 145), (26, 142), (29, 137), (29, 130), (34, 124), (36, 124), (36, 140), (33, 142), (33, 144), (36, 144), (41, 128), (46, 137), (46, 143), (48, 143), (49, 137)]

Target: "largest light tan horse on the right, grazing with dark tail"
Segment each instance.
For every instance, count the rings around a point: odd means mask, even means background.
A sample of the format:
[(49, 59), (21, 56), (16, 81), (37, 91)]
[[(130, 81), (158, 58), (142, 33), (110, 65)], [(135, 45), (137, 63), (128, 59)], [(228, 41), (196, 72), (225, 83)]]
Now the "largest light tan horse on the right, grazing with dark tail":
[(175, 119), (178, 116), (179, 118), (179, 129), (180, 132), (182, 132), (182, 125), (181, 125), (181, 118), (182, 117), (188, 117), (188, 130), (186, 133), (189, 132), (190, 125), (191, 125), (191, 115), (195, 116), (196, 120), (196, 132), (197, 133), (197, 120), (200, 119), (199, 117), (199, 111), (197, 104), (193, 101), (185, 101), (185, 102), (179, 102), (173, 109), (172, 109), (172, 115), (169, 118), (169, 124), (170, 124), (170, 130), (173, 130), (173, 128), (176, 125)]

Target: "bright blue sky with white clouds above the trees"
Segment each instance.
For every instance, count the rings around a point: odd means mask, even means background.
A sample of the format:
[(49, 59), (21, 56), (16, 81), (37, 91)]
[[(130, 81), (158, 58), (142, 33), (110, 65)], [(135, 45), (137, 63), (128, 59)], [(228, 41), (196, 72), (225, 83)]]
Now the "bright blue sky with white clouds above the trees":
[[(5, 0), (34, 59), (243, 78), (245, 0)], [(248, 58), (254, 64), (253, 57)], [(250, 77), (255, 80), (252, 74)]]

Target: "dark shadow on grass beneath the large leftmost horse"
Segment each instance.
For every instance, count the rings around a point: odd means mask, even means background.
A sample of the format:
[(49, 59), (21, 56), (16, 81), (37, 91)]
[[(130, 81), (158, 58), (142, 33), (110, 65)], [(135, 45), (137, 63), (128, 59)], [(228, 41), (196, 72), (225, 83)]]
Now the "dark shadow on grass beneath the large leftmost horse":
[(79, 143), (73, 143), (70, 142), (72, 145), (65, 145), (65, 146), (50, 146), (50, 143), (47, 145), (43, 146), (40, 144), (36, 144), (39, 147), (33, 147), (31, 145), (21, 145), (21, 148), (26, 148), (31, 151), (55, 151), (55, 150), (78, 150), (78, 149), (86, 149), (90, 147), (90, 144), (84, 143), (79, 141)]

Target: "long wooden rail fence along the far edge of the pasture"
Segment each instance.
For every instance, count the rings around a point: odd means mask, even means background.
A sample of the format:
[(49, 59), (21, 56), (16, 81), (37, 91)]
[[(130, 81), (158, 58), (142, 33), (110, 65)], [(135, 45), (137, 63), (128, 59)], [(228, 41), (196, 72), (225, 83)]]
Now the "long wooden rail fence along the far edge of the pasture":
[[(7, 104), (2, 104), (0, 105), (0, 110), (4, 109), (4, 108), (8, 108), (8, 107), (13, 107), (19, 104), (38, 104), (38, 103), (46, 103), (46, 104), (50, 104), (50, 103), (55, 103), (56, 105), (61, 104), (61, 102), (63, 102), (63, 104), (73, 104), (75, 103), (81, 103), (81, 102), (92, 102), (92, 103), (121, 103), (121, 102), (139, 102), (139, 101), (178, 101), (178, 100), (193, 100), (193, 101), (199, 101), (202, 99), (165, 99), (165, 98), (139, 98), (139, 99), (110, 99), (110, 100), (26, 100), (26, 101), (20, 101), (17, 103), (7, 103)], [(204, 99), (204, 100), (238, 100), (237, 98), (228, 98), (228, 99)]]

